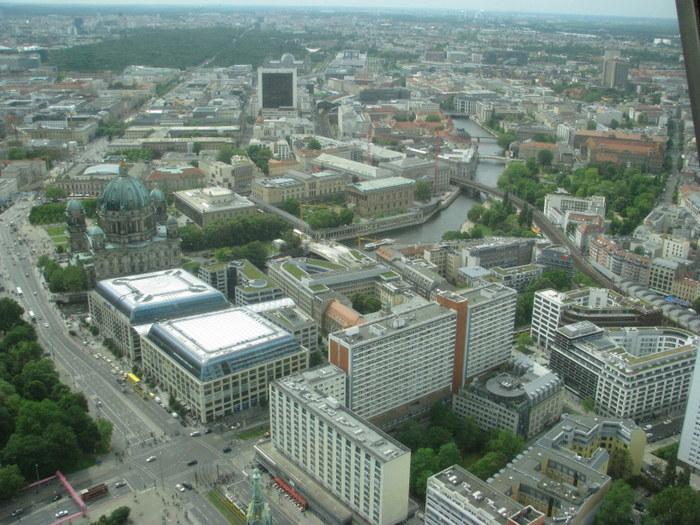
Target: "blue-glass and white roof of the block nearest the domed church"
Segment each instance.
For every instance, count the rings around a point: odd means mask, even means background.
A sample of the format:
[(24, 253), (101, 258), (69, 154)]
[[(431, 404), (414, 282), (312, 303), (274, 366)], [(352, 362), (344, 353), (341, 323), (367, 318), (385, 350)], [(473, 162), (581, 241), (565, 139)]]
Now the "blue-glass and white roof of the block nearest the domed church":
[(97, 283), (95, 292), (133, 324), (229, 306), (221, 292), (179, 268), (106, 279)]

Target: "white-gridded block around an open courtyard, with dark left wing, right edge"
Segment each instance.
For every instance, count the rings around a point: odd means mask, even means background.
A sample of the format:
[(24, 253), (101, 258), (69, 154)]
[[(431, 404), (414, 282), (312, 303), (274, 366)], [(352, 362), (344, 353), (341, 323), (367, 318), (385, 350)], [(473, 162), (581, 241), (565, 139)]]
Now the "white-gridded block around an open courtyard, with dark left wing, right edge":
[(557, 330), (549, 364), (598, 413), (644, 421), (683, 412), (699, 344), (680, 328), (581, 321)]

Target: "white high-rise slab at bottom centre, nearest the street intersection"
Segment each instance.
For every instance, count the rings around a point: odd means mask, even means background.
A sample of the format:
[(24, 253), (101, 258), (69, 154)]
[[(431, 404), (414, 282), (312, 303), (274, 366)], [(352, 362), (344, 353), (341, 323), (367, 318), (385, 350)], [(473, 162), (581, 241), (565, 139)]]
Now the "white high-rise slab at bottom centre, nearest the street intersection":
[(277, 451), (373, 525), (408, 513), (411, 451), (345, 408), (344, 374), (325, 366), (270, 385)]

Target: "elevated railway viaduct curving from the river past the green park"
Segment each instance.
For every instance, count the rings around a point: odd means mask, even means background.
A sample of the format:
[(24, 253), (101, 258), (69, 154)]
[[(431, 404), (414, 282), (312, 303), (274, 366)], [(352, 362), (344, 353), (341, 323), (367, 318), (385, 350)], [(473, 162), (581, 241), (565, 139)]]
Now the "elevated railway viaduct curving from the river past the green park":
[[(456, 186), (459, 186), (460, 188), (477, 190), (481, 193), (493, 195), (501, 199), (505, 196), (504, 193), (498, 188), (486, 186), (485, 184), (482, 184), (475, 180), (451, 176), (450, 182)], [(509, 198), (510, 201), (519, 209), (522, 209), (522, 207), (525, 205), (525, 201), (523, 201), (520, 197), (517, 197), (516, 195), (509, 195)], [(578, 270), (588, 275), (591, 279), (593, 279), (593, 282), (598, 283), (600, 286), (603, 286), (605, 288), (611, 288), (614, 290), (618, 289), (615, 283), (613, 283), (610, 279), (602, 275), (598, 270), (596, 270), (593, 267), (593, 265), (591, 265), (588, 262), (588, 260), (586, 260), (586, 258), (581, 254), (579, 249), (569, 240), (569, 238), (562, 230), (560, 230), (554, 224), (549, 222), (549, 219), (547, 219), (544, 216), (544, 213), (542, 213), (540, 210), (538, 210), (532, 205), (529, 206), (532, 209), (532, 222), (535, 223), (535, 226), (537, 226), (542, 231), (542, 233), (544, 233), (547, 236), (547, 238), (550, 239), (552, 242), (566, 246), (569, 249), (569, 251), (571, 252), (571, 257), (574, 260), (574, 265)]]

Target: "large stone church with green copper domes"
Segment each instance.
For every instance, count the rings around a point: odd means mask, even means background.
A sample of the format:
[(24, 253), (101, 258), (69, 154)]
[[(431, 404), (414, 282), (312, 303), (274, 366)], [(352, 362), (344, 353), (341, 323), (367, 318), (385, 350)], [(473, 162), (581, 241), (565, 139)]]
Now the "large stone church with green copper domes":
[(98, 199), (97, 225), (86, 226), (83, 206), (75, 200), (68, 202), (66, 220), (73, 256), (93, 283), (180, 264), (177, 221), (168, 220), (163, 193), (149, 193), (123, 162)]

